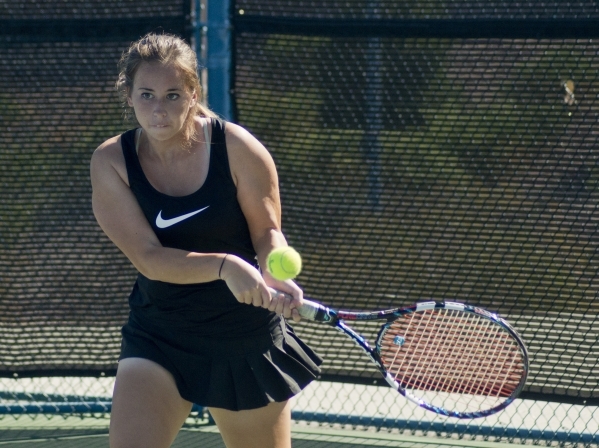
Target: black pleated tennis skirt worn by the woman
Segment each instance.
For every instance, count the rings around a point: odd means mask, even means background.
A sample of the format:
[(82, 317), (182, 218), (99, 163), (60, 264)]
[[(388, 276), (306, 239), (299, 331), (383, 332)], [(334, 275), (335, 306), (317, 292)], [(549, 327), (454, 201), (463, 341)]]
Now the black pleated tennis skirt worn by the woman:
[(232, 411), (291, 398), (318, 376), (322, 363), (283, 318), (265, 334), (219, 339), (158, 332), (130, 316), (122, 334), (119, 359), (154, 361), (173, 375), (184, 399)]

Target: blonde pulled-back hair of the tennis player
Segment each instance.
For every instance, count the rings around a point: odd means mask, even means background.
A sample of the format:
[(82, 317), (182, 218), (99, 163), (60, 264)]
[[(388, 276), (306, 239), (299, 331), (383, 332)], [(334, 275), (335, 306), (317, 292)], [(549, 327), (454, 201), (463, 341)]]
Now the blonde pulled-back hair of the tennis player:
[(183, 81), (190, 91), (195, 91), (197, 101), (187, 114), (183, 123), (184, 144), (190, 145), (197, 140), (195, 117), (217, 118), (218, 116), (202, 104), (202, 85), (198, 76), (198, 59), (195, 51), (181, 38), (172, 34), (149, 33), (123, 52), (119, 61), (119, 77), (116, 90), (125, 107), (125, 117), (135, 117), (127, 98), (133, 88), (133, 78), (142, 62), (159, 62), (164, 65), (172, 64), (183, 75)]

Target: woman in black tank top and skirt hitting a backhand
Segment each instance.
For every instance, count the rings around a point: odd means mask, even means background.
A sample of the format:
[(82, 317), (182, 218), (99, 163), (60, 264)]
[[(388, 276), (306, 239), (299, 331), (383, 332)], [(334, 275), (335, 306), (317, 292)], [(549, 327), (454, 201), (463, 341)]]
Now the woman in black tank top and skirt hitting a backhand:
[(200, 104), (196, 67), (175, 36), (132, 44), (117, 90), (139, 127), (91, 160), (96, 219), (139, 271), (110, 446), (168, 447), (197, 403), (229, 448), (288, 448), (288, 399), (321, 360), (285, 323), (299, 320), (302, 291), (259, 270), (287, 244), (276, 168), (252, 135)]

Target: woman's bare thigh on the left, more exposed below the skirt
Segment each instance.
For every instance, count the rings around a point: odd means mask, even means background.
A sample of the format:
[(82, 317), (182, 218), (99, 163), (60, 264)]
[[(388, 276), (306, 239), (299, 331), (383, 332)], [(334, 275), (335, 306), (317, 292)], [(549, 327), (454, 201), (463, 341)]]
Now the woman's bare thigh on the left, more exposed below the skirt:
[(142, 358), (121, 360), (112, 397), (110, 447), (170, 447), (191, 406), (160, 365)]

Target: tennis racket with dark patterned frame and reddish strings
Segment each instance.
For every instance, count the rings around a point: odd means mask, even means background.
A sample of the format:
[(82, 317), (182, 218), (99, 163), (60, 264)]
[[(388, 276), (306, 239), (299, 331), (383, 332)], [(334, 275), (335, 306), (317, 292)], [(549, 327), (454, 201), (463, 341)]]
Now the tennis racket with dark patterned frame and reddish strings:
[[(283, 294), (275, 290), (271, 294)], [(518, 396), (528, 374), (528, 353), (504, 319), (456, 302), (422, 302), (407, 308), (351, 312), (304, 299), (302, 318), (339, 330), (366, 352), (387, 383), (437, 414), (478, 418)], [(345, 324), (384, 321), (374, 348)]]

